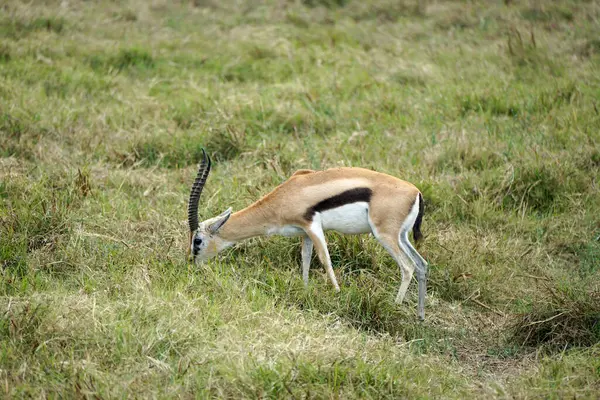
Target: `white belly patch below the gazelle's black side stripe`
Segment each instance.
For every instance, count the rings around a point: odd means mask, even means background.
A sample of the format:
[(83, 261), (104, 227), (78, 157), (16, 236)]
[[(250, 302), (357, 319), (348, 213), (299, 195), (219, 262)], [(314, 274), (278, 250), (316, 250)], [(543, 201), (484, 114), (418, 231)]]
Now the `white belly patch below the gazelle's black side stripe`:
[(318, 214), (324, 231), (349, 234), (371, 232), (369, 204), (366, 202), (345, 204)]

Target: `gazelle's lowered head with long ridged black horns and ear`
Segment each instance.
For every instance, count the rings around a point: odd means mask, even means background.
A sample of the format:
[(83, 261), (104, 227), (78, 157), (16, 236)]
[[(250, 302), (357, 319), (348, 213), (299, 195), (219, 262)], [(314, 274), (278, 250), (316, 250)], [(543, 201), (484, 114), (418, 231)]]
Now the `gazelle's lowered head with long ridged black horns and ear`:
[(220, 250), (229, 245), (226, 240), (219, 236), (219, 230), (231, 216), (231, 208), (228, 208), (217, 217), (198, 223), (198, 202), (211, 165), (210, 157), (204, 149), (202, 149), (202, 155), (202, 162), (192, 185), (188, 204), (188, 223), (190, 225), (188, 254), (191, 255), (194, 262), (201, 262), (214, 257)]

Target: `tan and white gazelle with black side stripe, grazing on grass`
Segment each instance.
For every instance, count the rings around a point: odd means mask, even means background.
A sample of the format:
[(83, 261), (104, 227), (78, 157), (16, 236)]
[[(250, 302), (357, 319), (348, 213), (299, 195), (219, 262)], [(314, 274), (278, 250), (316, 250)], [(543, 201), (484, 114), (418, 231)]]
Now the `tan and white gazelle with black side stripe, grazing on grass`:
[(205, 260), (234, 243), (261, 235), (302, 236), (302, 278), (308, 284), (313, 245), (329, 279), (339, 291), (324, 231), (373, 233), (400, 266), (401, 303), (415, 267), (419, 283), (419, 318), (425, 318), (427, 263), (410, 244), (408, 232), (421, 238), (423, 197), (412, 184), (363, 168), (299, 170), (254, 204), (236, 213), (231, 208), (198, 224), (198, 201), (210, 172), (204, 158), (192, 186), (188, 206), (189, 250), (194, 260)]

